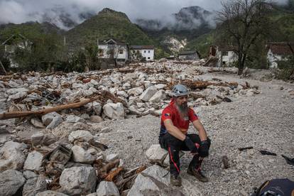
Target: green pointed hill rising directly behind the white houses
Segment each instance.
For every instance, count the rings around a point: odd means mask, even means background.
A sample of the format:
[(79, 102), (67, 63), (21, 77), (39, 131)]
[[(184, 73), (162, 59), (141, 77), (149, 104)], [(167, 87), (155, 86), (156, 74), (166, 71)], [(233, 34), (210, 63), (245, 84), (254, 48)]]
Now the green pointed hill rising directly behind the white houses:
[(96, 16), (67, 31), (65, 35), (67, 42), (73, 47), (107, 38), (116, 38), (131, 45), (153, 44), (153, 40), (131, 23), (125, 13), (111, 9), (103, 9)]

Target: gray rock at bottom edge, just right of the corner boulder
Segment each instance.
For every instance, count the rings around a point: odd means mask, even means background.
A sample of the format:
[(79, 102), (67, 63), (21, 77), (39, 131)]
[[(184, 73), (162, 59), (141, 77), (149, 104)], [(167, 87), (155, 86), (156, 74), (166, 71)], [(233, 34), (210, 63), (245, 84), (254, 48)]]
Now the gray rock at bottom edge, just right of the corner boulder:
[(43, 192), (47, 189), (45, 176), (39, 175), (38, 178), (31, 178), (26, 181), (23, 186), (23, 196), (35, 196), (38, 192)]

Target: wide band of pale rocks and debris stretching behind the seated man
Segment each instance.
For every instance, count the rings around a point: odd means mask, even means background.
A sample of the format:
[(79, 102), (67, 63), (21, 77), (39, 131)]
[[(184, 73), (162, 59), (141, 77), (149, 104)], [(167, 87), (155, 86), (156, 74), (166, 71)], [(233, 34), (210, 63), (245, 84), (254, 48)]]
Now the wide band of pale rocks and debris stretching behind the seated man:
[[(64, 109), (31, 119), (37, 128), (55, 129), (62, 121), (101, 122), (147, 114), (159, 115), (170, 102), (170, 88), (180, 81), (209, 82), (202, 88), (191, 87), (190, 107), (231, 102), (239, 96), (260, 93), (258, 87), (230, 85), (220, 80), (201, 81), (192, 65), (175, 62), (148, 62), (124, 69), (67, 74), (41, 75), (34, 72), (4, 80), (0, 78), (0, 111), (38, 111), (80, 99), (97, 100), (80, 109)], [(190, 67), (189, 67), (190, 66)], [(103, 92), (108, 92), (105, 96)], [(99, 97), (100, 96), (100, 97)]]

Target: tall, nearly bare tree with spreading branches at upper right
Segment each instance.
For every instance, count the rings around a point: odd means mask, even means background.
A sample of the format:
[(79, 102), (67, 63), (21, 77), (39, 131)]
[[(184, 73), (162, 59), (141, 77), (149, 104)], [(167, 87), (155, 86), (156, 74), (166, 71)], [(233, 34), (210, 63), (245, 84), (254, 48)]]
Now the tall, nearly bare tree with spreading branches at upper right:
[(267, 17), (268, 4), (264, 0), (230, 0), (222, 2), (218, 13), (219, 34), (226, 36), (227, 45), (235, 47), (238, 55), (238, 75), (241, 75), (249, 50), (256, 40), (268, 36), (271, 22)]

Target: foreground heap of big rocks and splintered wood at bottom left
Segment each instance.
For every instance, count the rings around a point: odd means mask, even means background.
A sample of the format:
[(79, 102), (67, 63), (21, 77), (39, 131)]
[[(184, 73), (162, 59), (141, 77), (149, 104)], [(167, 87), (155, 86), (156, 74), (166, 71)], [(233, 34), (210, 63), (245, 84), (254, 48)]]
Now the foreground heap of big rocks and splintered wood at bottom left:
[(1, 195), (106, 196), (178, 192), (169, 187), (168, 170), (153, 165), (128, 171), (124, 168), (124, 160), (117, 154), (106, 154), (106, 148), (98, 142), (97, 136), (84, 130), (72, 131), (63, 140), (38, 133), (25, 143), (7, 141), (0, 149)]

